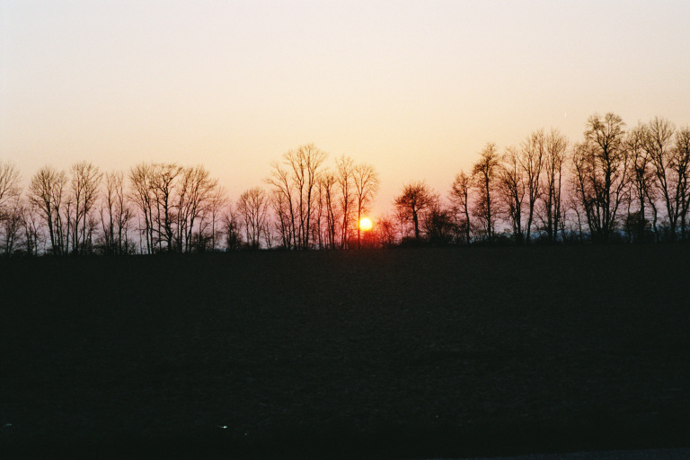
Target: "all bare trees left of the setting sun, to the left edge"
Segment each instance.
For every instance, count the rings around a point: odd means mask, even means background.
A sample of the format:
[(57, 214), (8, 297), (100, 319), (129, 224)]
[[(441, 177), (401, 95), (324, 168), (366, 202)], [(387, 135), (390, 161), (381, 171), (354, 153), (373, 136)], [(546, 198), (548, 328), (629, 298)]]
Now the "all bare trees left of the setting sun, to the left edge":
[(0, 162), (0, 252), (128, 254), (237, 249), (350, 248), (379, 187), (369, 164), (333, 167), (314, 145), (272, 165), (268, 188), (228, 197), (203, 166), (141, 163), (103, 173), (81, 162), (40, 168), (22, 190)]

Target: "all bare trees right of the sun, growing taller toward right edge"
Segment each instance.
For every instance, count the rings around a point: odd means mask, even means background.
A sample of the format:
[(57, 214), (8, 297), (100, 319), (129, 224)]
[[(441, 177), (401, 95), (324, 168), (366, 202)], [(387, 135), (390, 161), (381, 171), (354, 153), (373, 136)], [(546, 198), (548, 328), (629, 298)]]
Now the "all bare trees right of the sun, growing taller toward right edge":
[[(414, 242), (659, 242), (686, 240), (690, 128), (655, 118), (630, 130), (591, 116), (571, 144), (538, 130), (500, 153), (487, 144), (447, 199), (424, 182), (395, 199), (401, 235)], [(406, 224), (406, 225), (405, 225)]]

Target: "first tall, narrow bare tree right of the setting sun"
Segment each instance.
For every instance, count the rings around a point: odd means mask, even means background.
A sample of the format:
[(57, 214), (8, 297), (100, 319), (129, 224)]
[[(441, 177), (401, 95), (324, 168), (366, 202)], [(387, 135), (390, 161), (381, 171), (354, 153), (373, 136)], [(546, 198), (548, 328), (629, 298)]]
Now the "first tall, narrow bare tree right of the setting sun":
[(475, 202), (474, 215), (484, 226), (486, 238), (491, 243), (496, 226), (493, 194), (494, 182), (499, 175), (499, 154), (494, 144), (487, 144), (481, 152), (479, 161), (473, 166), (473, 177), (479, 190), (479, 199)]

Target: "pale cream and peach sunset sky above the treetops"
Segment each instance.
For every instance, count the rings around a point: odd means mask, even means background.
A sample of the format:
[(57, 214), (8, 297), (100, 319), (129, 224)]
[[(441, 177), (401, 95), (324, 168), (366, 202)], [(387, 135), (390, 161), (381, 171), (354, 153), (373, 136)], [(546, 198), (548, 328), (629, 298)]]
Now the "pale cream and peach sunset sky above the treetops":
[(487, 142), (594, 113), (690, 124), (690, 2), (0, 2), (0, 160), (203, 164), (229, 190), (314, 143), (447, 194)]

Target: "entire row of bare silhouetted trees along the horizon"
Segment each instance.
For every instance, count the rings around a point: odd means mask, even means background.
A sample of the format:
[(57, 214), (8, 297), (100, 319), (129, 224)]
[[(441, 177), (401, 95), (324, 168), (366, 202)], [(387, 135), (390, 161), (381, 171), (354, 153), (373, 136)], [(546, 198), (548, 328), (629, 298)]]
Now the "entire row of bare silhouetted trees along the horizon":
[(488, 143), (443, 197), (405, 184), (393, 213), (360, 230), (380, 181), (371, 164), (298, 146), (264, 184), (233, 200), (201, 165), (89, 162), (41, 167), (22, 190), (0, 161), (0, 252), (128, 254), (240, 249), (348, 249), (396, 244), (661, 242), (688, 238), (690, 128), (655, 118), (626, 130), (589, 117), (571, 143), (536, 130), (518, 146)]

